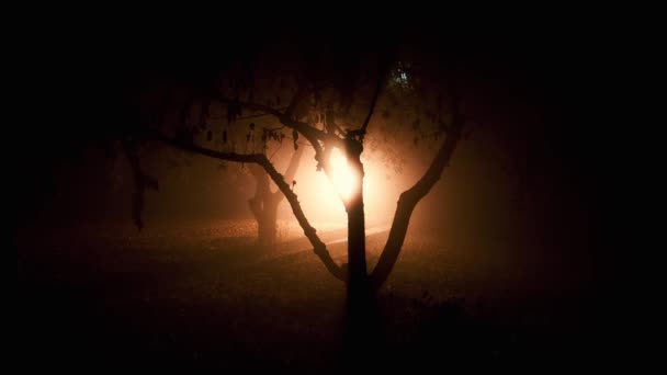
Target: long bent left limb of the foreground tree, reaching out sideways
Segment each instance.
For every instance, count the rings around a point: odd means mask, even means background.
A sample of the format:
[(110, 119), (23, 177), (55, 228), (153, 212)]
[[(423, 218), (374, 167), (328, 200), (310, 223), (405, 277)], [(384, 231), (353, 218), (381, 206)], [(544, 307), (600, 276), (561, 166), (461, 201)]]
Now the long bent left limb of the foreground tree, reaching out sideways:
[(179, 149), (182, 149), (185, 151), (203, 155), (203, 156), (206, 156), (210, 158), (227, 160), (227, 161), (235, 161), (235, 162), (256, 163), (256, 164), (259, 164), (260, 167), (262, 167), (264, 169), (264, 171), (267, 171), (267, 173), (269, 174), (271, 180), (273, 180), (275, 185), (280, 189), (280, 191), (287, 198), (287, 202), (290, 202), (292, 212), (294, 213), (294, 216), (296, 217), (296, 220), (298, 221), (301, 227), (304, 229), (304, 235), (306, 236), (306, 238), (308, 238), (308, 240), (310, 241), (310, 245), (313, 245), (313, 251), (315, 252), (315, 254), (317, 257), (319, 257), (319, 259), (325, 264), (327, 270), (336, 279), (343, 281), (343, 282), (347, 280), (347, 275), (344, 274), (344, 272), (341, 270), (341, 268), (338, 264), (336, 264), (334, 259), (331, 259), (331, 254), (327, 250), (327, 246), (319, 239), (315, 228), (313, 228), (313, 226), (310, 226), (310, 223), (308, 221), (308, 219), (306, 218), (306, 215), (304, 214), (303, 209), (301, 208), (301, 204), (298, 203), (298, 198), (297, 198), (296, 194), (292, 191), (292, 189), (290, 189), (290, 185), (287, 184), (287, 182), (285, 182), (285, 179), (283, 178), (283, 175), (278, 172), (275, 167), (273, 167), (273, 164), (267, 158), (265, 155), (216, 151), (216, 150), (212, 150), (212, 149), (207, 149), (207, 148), (197, 146), (195, 144), (182, 143), (182, 141), (166, 137), (162, 134), (160, 134), (159, 132), (151, 132), (150, 137), (159, 140), (159, 141), (162, 141), (171, 147), (176, 147), (176, 148), (179, 148)]

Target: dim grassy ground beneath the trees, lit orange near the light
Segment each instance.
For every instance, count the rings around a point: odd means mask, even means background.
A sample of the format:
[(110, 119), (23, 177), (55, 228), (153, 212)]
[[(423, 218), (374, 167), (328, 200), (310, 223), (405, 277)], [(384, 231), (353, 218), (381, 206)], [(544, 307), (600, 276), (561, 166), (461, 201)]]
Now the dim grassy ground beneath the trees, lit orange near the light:
[[(294, 231), (249, 221), (77, 225), (18, 236), (16, 359), (95, 371), (343, 366), (344, 289)], [(323, 232), (334, 241), (344, 232)], [(369, 237), (371, 265), (386, 234)], [(330, 246), (344, 260), (346, 243)], [(481, 250), (411, 230), (377, 298), (373, 366), (590, 360), (588, 270), (530, 249)]]

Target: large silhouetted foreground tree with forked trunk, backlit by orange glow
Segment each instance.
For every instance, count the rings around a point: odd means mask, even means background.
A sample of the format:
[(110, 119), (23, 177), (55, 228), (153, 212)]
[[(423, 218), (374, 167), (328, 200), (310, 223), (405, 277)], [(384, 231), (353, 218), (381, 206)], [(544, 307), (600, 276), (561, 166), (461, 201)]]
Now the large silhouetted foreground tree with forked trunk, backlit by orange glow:
[[(256, 215), (260, 207), (268, 220), (274, 215), (278, 198), (270, 193), (268, 177), (287, 200), (315, 254), (334, 277), (346, 283), (350, 300), (365, 300), (389, 276), (415, 207), (440, 180), (462, 137), (466, 120), (462, 112), (457, 71), (451, 65), (443, 65), (438, 55), (419, 60), (405, 53), (403, 56), (407, 59), (403, 59), (396, 48), (369, 52), (360, 45), (334, 45), (329, 49), (296, 50), (270, 46), (262, 53), (269, 54), (271, 59), (263, 59), (265, 56), (257, 52), (239, 54), (227, 61), (226, 69), (161, 80), (157, 95), (154, 92), (138, 101), (139, 128), (145, 139), (255, 166), (251, 170), (259, 183), (250, 205)], [(284, 98), (290, 101), (285, 103)], [(218, 112), (217, 118), (226, 122), (214, 124), (214, 110)], [(407, 115), (392, 115), (392, 111)], [(270, 124), (260, 129), (251, 122), (246, 127), (244, 114), (264, 116), (270, 118), (267, 120)], [(406, 124), (405, 120), (410, 116), (416, 120)], [(380, 121), (386, 125), (382, 132), (412, 134), (415, 145), (420, 137), (428, 136), (440, 145), (422, 175), (400, 194), (387, 242), (377, 264), (369, 272), (361, 156), (372, 124)], [(202, 146), (206, 141), (204, 138), (212, 141), (214, 132), (222, 144)], [(241, 151), (239, 145), (244, 139)], [(271, 161), (269, 148), (282, 145), (285, 139), (291, 140), (295, 150), (302, 141), (312, 147), (317, 170), (330, 179), (331, 151), (338, 149), (347, 159), (355, 183), (349, 197), (339, 197), (348, 216), (346, 264), (337, 264), (331, 259), (304, 214), (292, 189), (293, 166), (285, 177)], [(137, 191), (152, 186), (152, 180), (138, 167), (134, 174)], [(135, 206), (139, 207), (142, 194), (135, 195), (139, 202)], [(259, 219), (260, 215), (257, 217)], [(272, 229), (267, 230), (267, 236), (271, 237)]]

